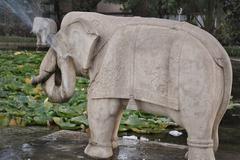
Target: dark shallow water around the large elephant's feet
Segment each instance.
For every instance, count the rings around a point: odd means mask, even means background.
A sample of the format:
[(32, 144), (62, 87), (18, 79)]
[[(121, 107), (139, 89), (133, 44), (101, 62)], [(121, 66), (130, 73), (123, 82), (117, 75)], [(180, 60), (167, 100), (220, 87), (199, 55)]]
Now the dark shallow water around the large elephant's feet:
[[(88, 143), (85, 133), (50, 130), (44, 127), (1, 128), (1, 160), (91, 160), (84, 155)], [(133, 135), (122, 133), (121, 135)], [(136, 135), (136, 134), (135, 134)], [(173, 137), (168, 132), (152, 135), (136, 135), (150, 141), (121, 139), (120, 147), (114, 151), (113, 160), (182, 160), (186, 149), (186, 133)], [(240, 159), (240, 128), (225, 126), (220, 128), (220, 148), (217, 160)], [(161, 143), (159, 143), (161, 142)], [(175, 143), (164, 147), (162, 142)]]

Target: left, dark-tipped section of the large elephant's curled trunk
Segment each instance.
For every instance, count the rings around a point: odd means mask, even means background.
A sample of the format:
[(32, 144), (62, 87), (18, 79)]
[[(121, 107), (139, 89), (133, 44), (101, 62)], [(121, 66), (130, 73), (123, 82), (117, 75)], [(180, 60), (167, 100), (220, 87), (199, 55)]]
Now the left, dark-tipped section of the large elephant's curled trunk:
[(39, 75), (32, 78), (32, 85), (44, 83), (55, 72), (57, 66), (57, 58), (55, 51), (50, 48), (44, 57), (39, 70)]

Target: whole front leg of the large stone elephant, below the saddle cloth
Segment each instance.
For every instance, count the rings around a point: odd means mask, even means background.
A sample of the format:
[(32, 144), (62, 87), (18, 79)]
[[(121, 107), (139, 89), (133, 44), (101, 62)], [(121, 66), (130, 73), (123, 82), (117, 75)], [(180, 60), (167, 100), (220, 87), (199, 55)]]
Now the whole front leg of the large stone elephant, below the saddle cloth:
[(117, 99), (89, 99), (90, 140), (84, 151), (87, 155), (95, 158), (109, 158), (113, 155), (112, 136), (119, 106)]

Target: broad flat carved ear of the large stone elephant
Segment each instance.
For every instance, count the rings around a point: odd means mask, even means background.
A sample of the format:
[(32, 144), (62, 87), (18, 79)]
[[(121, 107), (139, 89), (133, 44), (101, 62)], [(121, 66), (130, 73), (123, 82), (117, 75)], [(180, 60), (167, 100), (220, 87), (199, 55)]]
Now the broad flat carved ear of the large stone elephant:
[(83, 69), (89, 69), (99, 39), (92, 24), (84, 19), (77, 19), (64, 27), (62, 32), (68, 39), (70, 53), (77, 56)]

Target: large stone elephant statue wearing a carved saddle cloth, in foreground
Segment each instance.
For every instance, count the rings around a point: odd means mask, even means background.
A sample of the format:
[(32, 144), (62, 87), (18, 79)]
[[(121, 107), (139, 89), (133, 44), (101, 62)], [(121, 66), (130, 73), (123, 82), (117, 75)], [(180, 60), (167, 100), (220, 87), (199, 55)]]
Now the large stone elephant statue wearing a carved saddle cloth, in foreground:
[(90, 78), (89, 156), (112, 156), (123, 109), (133, 106), (184, 127), (188, 160), (215, 159), (232, 69), (209, 33), (186, 22), (70, 12), (32, 83), (65, 102), (81, 75)]

